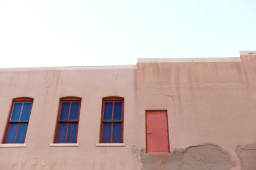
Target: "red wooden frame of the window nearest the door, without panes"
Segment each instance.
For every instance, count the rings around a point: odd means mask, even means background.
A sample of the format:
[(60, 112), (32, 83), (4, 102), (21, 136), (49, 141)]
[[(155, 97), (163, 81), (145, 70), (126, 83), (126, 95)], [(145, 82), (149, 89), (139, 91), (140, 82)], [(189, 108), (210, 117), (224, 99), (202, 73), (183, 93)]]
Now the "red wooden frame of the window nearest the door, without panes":
[[(104, 109), (105, 109), (105, 103), (106, 102), (122, 102), (122, 113), (121, 113), (121, 120), (120, 121), (113, 121), (113, 114), (114, 114), (114, 109), (112, 108), (112, 121), (104, 121)], [(121, 142), (123, 143), (123, 111), (124, 111), (124, 98), (123, 97), (103, 97), (102, 98), (102, 107), (101, 107), (101, 128), (100, 128), (100, 143), (102, 142), (102, 136), (103, 136), (103, 126), (104, 126), (104, 122), (108, 122), (108, 123), (112, 123), (111, 126), (111, 142), (113, 143), (113, 123), (115, 122), (121, 122)], [(114, 104), (113, 106), (114, 107)]]

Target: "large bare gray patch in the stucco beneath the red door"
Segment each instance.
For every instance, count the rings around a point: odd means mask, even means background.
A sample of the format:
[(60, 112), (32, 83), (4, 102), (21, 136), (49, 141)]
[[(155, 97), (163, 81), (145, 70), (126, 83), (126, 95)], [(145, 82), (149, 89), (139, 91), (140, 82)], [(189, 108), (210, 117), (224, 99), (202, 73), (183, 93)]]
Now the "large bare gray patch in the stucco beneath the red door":
[(133, 146), (133, 154), (142, 170), (228, 170), (234, 166), (231, 155), (220, 146), (204, 144), (184, 149), (174, 149), (170, 153), (147, 154), (145, 149)]

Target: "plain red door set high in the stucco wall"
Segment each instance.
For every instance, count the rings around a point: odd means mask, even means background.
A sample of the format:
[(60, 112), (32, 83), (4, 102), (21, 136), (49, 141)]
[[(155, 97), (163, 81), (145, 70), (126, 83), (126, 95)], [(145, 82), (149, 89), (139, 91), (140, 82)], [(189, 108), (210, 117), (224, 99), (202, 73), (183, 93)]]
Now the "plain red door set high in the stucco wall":
[(146, 147), (148, 153), (169, 152), (167, 111), (146, 111)]

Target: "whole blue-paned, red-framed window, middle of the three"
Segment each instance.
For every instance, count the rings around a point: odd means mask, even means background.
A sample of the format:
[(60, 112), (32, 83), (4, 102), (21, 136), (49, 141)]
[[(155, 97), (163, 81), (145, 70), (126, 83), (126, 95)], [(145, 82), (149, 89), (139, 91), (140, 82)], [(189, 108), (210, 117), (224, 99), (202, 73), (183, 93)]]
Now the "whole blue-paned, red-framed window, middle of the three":
[(81, 98), (63, 97), (60, 99), (55, 131), (55, 143), (76, 143), (79, 125)]

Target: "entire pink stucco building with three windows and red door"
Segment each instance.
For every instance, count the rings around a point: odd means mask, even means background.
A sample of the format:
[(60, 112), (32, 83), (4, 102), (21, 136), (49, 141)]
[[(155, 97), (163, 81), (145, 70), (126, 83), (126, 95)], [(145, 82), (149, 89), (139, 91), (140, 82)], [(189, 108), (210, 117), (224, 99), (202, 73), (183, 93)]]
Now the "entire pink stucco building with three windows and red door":
[(1, 169), (256, 169), (256, 53), (0, 69)]

